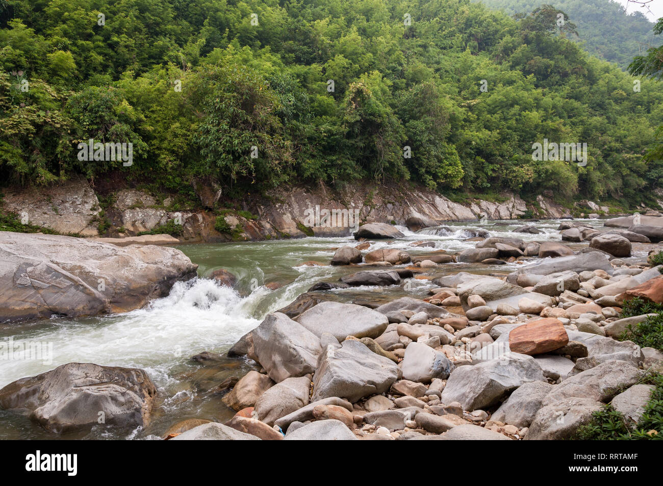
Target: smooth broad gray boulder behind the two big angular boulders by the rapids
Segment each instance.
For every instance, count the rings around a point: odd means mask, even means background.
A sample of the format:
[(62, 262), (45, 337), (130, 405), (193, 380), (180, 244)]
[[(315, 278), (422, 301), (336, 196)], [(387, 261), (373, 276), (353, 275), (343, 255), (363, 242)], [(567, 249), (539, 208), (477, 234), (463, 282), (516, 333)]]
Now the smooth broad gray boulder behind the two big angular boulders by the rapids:
[(341, 302), (320, 302), (295, 320), (318, 337), (328, 332), (339, 342), (349, 335), (378, 337), (389, 325), (389, 319), (381, 312)]

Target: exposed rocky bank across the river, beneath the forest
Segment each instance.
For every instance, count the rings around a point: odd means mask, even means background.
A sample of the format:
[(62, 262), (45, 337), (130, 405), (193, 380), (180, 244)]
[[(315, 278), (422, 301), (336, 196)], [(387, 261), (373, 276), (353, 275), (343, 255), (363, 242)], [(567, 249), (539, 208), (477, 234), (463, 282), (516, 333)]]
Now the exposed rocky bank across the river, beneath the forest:
[[(445, 221), (557, 219), (570, 217), (571, 212), (553, 202), (552, 194), (530, 202), (505, 193), (493, 201), (469, 198), (459, 203), (417, 186), (357, 183), (337, 188), (277, 188), (263, 197), (248, 195), (244, 200), (223, 202), (219, 190), (200, 182), (195, 185), (196, 200), (185, 204), (176, 195), (155, 196), (123, 184), (95, 189), (85, 179), (74, 179), (39, 189), (9, 188), (1, 210), (23, 223), (63, 235), (125, 238), (170, 233), (183, 243), (347, 236), (357, 225), (369, 222), (406, 225), (414, 231)], [(584, 201), (572, 212), (599, 217), (611, 211)]]

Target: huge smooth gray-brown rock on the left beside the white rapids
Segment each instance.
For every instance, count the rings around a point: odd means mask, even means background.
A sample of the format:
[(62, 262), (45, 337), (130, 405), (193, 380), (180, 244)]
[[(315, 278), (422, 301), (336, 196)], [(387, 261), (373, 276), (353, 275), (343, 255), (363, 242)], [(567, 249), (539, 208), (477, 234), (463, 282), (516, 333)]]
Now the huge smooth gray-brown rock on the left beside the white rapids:
[(0, 321), (128, 312), (196, 269), (169, 247), (0, 231)]

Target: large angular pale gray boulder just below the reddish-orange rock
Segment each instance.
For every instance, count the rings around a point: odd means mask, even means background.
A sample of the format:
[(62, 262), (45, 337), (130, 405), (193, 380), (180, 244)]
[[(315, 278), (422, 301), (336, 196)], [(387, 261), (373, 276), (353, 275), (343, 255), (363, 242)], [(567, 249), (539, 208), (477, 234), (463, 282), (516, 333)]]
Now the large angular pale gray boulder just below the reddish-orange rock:
[(500, 359), (452, 371), (442, 391), (442, 402), (459, 402), (464, 410), (497, 404), (510, 391), (528, 381), (545, 381), (541, 367), (531, 356), (507, 353)]

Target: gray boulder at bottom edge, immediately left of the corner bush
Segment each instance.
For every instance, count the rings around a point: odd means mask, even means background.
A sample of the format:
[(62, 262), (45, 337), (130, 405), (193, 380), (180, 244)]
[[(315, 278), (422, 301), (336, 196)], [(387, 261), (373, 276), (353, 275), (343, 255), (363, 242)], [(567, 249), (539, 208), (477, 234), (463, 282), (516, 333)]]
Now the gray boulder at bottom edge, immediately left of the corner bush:
[[(557, 385), (558, 387), (560, 385)], [(569, 397), (548, 404), (536, 412), (525, 440), (563, 440), (587, 424), (603, 404), (592, 398)]]

